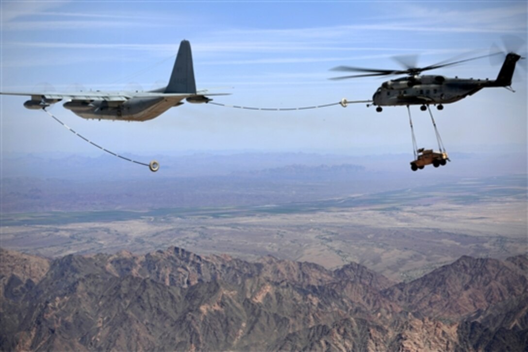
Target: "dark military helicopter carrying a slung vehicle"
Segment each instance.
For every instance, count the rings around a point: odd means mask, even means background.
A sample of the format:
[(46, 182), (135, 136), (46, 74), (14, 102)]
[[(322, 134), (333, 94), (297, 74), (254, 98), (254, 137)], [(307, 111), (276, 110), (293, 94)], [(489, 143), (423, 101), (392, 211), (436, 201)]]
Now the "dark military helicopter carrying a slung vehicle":
[(383, 69), (367, 69), (351, 66), (338, 66), (332, 71), (352, 71), (352, 72), (366, 72), (362, 75), (343, 76), (331, 78), (333, 80), (341, 80), (357, 77), (372, 77), (372, 76), (392, 76), (392, 75), (407, 75), (405, 77), (388, 80), (381, 84), (372, 96), (372, 104), (376, 106), (376, 111), (381, 113), (382, 106), (409, 106), (421, 105), (422, 111), (427, 110), (428, 105), (436, 105), (438, 110), (444, 108), (444, 104), (455, 103), (469, 95), (475, 94), (482, 88), (488, 87), (505, 87), (513, 91), (510, 87), (512, 84), (512, 76), (515, 70), (515, 64), (521, 55), (510, 52), (506, 54), (506, 58), (502, 64), (502, 68), (495, 80), (490, 79), (473, 79), (473, 78), (448, 78), (445, 76), (420, 75), (423, 71), (438, 69), (456, 65), (459, 63), (481, 59), (489, 56), (499, 54), (492, 53), (488, 55), (479, 56), (465, 60), (458, 60), (452, 62), (441, 62), (426, 67), (414, 67), (409, 57), (394, 57), (402, 66), (406, 67), (403, 70), (383, 70)]

